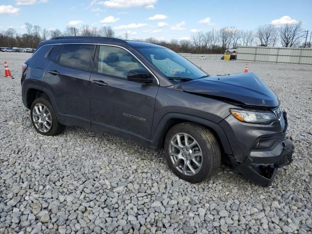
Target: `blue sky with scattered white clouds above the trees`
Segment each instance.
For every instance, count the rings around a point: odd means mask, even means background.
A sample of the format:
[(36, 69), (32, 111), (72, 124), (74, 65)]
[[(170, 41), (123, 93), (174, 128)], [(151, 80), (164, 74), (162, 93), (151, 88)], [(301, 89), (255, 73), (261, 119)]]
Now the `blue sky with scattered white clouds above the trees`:
[[(312, 0), (0, 0), (0, 30), (23, 24), (60, 29), (111, 26), (130, 39), (187, 39), (196, 30), (302, 21), (312, 30)], [(310, 33), (309, 33), (310, 34)]]

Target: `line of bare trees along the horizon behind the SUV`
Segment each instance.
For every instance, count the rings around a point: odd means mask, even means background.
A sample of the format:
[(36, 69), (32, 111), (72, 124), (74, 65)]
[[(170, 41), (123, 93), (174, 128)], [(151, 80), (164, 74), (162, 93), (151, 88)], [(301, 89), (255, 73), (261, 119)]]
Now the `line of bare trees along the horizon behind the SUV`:
[[(26, 33), (20, 35), (13, 28), (0, 31), (1, 47), (36, 48), (41, 40), (59, 36), (98, 36), (115, 37), (115, 32), (110, 26), (100, 28), (82, 25), (80, 28), (66, 27), (61, 32), (59, 29), (47, 30), (39, 25), (25, 23)], [(306, 31), (305, 31), (306, 32)], [(172, 39), (170, 41), (155, 38), (135, 39), (151, 42), (168, 47), (176, 52), (183, 53), (223, 53), (227, 48), (238, 45), (243, 46), (283, 46), (283, 47), (310, 47), (311, 42), (304, 40), (305, 35), (302, 22), (282, 24), (275, 26), (266, 24), (256, 30), (240, 30), (236, 27), (223, 27), (212, 29), (208, 32), (195, 32), (189, 39)], [(122, 36), (117, 38), (123, 39)]]

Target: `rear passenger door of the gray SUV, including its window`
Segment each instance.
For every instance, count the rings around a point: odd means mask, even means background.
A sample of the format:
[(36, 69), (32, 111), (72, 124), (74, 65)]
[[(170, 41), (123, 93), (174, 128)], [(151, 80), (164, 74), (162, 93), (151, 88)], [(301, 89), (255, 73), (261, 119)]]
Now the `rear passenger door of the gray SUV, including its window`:
[(59, 121), (90, 127), (89, 78), (94, 45), (54, 45), (43, 84), (51, 92)]

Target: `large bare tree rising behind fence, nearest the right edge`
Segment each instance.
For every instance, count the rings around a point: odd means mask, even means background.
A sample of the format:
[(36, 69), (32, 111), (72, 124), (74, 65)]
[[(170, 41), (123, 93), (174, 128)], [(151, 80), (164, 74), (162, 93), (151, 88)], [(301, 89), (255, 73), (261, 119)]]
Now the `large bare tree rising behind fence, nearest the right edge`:
[(302, 22), (286, 23), (278, 28), (278, 35), (283, 47), (299, 46), (302, 35)]

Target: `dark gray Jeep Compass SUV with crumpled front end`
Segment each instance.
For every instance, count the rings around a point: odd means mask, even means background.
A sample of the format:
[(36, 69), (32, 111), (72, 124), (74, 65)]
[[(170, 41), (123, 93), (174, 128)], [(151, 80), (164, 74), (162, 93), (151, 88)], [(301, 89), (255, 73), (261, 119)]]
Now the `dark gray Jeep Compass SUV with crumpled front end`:
[(176, 176), (211, 178), (221, 159), (263, 186), (292, 162), (287, 117), (253, 73), (210, 76), (156, 44), (59, 37), (23, 65), (22, 100), (42, 135), (77, 125), (164, 149)]

